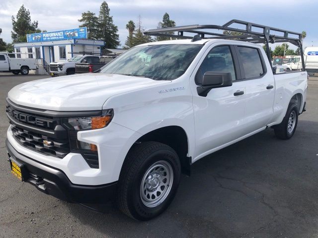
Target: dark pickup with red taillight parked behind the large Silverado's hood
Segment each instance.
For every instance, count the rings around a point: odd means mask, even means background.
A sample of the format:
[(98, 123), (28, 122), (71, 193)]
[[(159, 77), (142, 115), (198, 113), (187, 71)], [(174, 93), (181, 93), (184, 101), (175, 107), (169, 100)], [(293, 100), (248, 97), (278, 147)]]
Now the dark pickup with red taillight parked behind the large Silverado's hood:
[(82, 60), (82, 62), (75, 64), (75, 73), (95, 72), (115, 58), (116, 56), (107, 56), (107, 57), (101, 57), (99, 59), (92, 58), (92, 59)]

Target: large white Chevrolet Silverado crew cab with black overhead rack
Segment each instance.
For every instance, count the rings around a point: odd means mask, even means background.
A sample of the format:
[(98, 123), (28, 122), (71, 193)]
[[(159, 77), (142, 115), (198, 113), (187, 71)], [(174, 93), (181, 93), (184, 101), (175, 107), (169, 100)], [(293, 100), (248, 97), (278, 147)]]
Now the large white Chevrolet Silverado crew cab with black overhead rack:
[[(185, 38), (198, 29), (147, 34)], [(199, 32), (147, 43), (99, 73), (15, 86), (6, 99), (12, 174), (70, 202), (116, 199), (128, 216), (148, 220), (199, 159), (267, 128), (291, 138), (305, 111), (307, 72), (273, 74), (262, 46), (243, 41), (257, 37), (246, 33), (241, 41)]]

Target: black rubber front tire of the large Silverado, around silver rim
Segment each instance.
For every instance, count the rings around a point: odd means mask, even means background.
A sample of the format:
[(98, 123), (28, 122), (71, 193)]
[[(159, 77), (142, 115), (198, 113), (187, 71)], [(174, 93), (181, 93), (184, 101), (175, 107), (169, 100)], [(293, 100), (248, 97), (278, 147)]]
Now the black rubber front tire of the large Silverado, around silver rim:
[[(146, 206), (145, 201), (142, 200), (143, 195), (141, 191), (145, 188), (142, 188), (141, 184), (144, 178), (149, 178), (146, 176), (146, 172), (157, 171), (158, 167), (156, 168), (156, 163), (168, 163), (168, 165), (170, 165), (172, 168), (171, 171), (173, 171), (173, 181), (171, 181), (172, 186), (167, 193), (165, 193), (165, 190), (162, 190), (162, 194), (166, 194), (165, 199), (158, 205), (149, 207)], [(156, 169), (149, 171), (152, 166), (155, 166)], [(160, 169), (158, 171), (160, 172)], [(129, 151), (120, 174), (117, 193), (119, 209), (129, 217), (140, 221), (147, 221), (158, 216), (173, 200), (179, 185), (180, 174), (180, 161), (178, 155), (171, 147), (151, 141), (136, 144)], [(164, 174), (162, 174), (162, 176), (164, 176)], [(161, 185), (166, 185), (163, 184), (163, 181), (164, 179), (161, 181)], [(168, 184), (169, 182), (166, 183)], [(146, 185), (146, 183), (143, 184)], [(160, 186), (159, 180), (156, 194), (158, 194), (158, 191), (161, 191), (159, 189), (162, 189), (162, 187), (164, 186)], [(169, 184), (166, 188), (168, 187), (170, 187)], [(158, 196), (160, 196), (160, 193)], [(164, 195), (162, 195), (162, 197), (164, 197)]]

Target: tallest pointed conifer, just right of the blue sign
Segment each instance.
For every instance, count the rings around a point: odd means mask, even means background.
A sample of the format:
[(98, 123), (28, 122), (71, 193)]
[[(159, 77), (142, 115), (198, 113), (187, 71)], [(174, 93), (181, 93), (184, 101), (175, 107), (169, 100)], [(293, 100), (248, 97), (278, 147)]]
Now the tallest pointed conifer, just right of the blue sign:
[(103, 1), (99, 9), (97, 38), (104, 39), (105, 48), (116, 48), (120, 45), (118, 28), (114, 25), (109, 11), (107, 2)]

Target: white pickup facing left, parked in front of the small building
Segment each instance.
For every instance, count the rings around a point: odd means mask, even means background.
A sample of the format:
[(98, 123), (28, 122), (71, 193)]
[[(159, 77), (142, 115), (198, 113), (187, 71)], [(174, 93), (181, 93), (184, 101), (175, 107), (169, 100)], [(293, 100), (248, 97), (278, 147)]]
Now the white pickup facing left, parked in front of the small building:
[(75, 64), (76, 63), (90, 63), (99, 56), (84, 55), (84, 56), (74, 56), (69, 60), (60, 61), (60, 62), (51, 62), (50, 63), (50, 75), (54, 76), (63, 76), (75, 74)]

